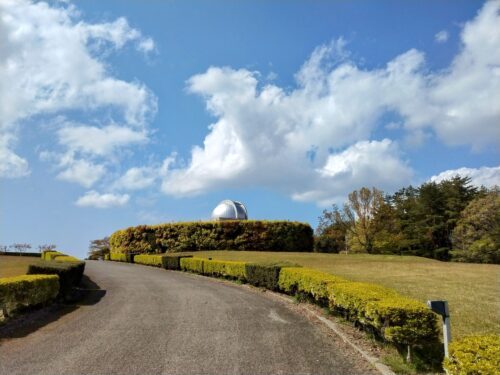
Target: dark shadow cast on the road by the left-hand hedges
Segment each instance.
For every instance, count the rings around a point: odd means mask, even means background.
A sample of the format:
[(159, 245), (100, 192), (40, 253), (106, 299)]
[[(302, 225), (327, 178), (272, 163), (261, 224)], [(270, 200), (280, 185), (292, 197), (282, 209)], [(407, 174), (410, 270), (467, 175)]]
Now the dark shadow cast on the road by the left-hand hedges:
[(68, 302), (56, 302), (41, 309), (25, 311), (24, 314), (11, 318), (0, 325), (0, 346), (7, 339), (28, 336), (47, 324), (59, 320), (64, 315), (78, 310), (80, 306), (95, 305), (105, 295), (106, 290), (101, 289), (88, 276), (83, 275), (80, 285), (75, 288)]

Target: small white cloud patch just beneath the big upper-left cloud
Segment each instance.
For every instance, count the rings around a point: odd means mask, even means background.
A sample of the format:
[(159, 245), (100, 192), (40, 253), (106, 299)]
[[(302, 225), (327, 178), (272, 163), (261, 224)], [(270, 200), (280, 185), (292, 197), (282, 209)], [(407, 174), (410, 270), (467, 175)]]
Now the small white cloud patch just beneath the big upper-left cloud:
[(57, 132), (59, 143), (72, 152), (106, 156), (116, 148), (147, 141), (144, 131), (109, 125), (102, 128), (95, 126), (65, 126)]

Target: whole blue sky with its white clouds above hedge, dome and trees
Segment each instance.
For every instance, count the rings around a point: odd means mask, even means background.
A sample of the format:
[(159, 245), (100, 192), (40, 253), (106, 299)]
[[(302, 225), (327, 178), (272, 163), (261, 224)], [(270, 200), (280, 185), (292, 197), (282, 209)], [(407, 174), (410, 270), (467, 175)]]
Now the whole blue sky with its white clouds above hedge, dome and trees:
[(500, 184), (500, 2), (0, 5), (0, 243)]

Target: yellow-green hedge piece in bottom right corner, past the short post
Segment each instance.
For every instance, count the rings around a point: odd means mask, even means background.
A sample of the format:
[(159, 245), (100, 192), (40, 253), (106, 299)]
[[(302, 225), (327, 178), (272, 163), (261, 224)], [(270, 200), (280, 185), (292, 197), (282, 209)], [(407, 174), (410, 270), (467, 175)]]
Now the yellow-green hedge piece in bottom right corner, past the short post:
[(500, 373), (500, 335), (469, 336), (452, 342), (443, 367), (450, 375)]

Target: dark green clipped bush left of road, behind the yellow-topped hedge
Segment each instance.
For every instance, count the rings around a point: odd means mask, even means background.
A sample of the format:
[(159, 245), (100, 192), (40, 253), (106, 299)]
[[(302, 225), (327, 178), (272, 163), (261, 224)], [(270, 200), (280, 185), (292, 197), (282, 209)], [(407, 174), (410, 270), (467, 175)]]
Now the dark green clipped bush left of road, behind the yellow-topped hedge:
[(64, 299), (71, 294), (73, 287), (80, 283), (84, 270), (84, 262), (54, 262), (40, 260), (29, 265), (27, 274), (58, 275), (60, 285), (58, 298)]

